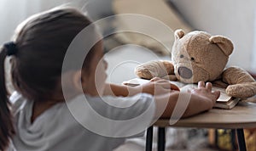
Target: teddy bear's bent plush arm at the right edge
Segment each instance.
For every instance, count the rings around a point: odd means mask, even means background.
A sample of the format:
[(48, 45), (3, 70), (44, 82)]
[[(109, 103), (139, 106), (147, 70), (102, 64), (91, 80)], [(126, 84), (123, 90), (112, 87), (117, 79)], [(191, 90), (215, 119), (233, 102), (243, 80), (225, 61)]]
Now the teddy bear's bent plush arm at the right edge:
[(230, 84), (227, 94), (236, 98), (249, 98), (256, 95), (256, 82), (253, 76), (239, 67), (224, 70), (223, 81)]

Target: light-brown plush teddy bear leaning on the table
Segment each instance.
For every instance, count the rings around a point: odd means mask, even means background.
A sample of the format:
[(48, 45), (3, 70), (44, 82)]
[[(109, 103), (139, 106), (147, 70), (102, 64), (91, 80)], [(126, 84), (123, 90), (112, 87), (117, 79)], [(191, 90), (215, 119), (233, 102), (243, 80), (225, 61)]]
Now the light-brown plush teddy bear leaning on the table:
[(206, 31), (174, 32), (172, 61), (149, 61), (137, 66), (136, 75), (143, 79), (155, 76), (171, 81), (197, 83), (211, 81), (224, 87), (228, 95), (249, 98), (256, 94), (256, 81), (246, 70), (226, 67), (234, 46), (226, 36), (212, 36)]

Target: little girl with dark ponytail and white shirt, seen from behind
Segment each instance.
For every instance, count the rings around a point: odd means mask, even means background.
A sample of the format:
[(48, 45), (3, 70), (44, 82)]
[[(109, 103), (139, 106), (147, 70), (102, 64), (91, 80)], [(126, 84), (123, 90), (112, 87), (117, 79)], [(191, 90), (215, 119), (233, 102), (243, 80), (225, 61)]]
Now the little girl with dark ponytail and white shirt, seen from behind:
[[(154, 78), (139, 87), (105, 83), (107, 63), (102, 60), (102, 41), (90, 48), (82, 70), (75, 61), (62, 70), (68, 46), (90, 24), (74, 8), (55, 8), (25, 20), (18, 26), (14, 40), (3, 45), (0, 150), (14, 149), (12, 144), (17, 150), (113, 150), (124, 143), (125, 137), (143, 134), (135, 135), (131, 130), (145, 130), (151, 124), (148, 121), (146, 126), (139, 121), (124, 126), (114, 121), (130, 120), (147, 109), (155, 111), (148, 120), (154, 120), (157, 114), (161, 118), (171, 117), (180, 92), (169, 81)], [(99, 35), (94, 29), (95, 36)], [(15, 87), (11, 96), (5, 87), (3, 63), (7, 57), (11, 58), (11, 81)], [(68, 90), (65, 98), (62, 85)], [(190, 100), (183, 117), (212, 109), (219, 96), (219, 92), (212, 92), (211, 83), (205, 86), (204, 82), (187, 94)], [(79, 117), (70, 111), (70, 106), (79, 110), (77, 102), (84, 95), (90, 109), (114, 121), (102, 123), (87, 109), (82, 109)]]

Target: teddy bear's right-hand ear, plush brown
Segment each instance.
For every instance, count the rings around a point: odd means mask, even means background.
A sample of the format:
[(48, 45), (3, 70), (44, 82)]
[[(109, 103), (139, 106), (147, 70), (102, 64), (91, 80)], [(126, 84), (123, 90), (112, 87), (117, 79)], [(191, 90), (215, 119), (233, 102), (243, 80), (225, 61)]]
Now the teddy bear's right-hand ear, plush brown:
[(217, 44), (226, 56), (229, 56), (233, 52), (233, 43), (225, 36), (211, 36), (209, 41)]

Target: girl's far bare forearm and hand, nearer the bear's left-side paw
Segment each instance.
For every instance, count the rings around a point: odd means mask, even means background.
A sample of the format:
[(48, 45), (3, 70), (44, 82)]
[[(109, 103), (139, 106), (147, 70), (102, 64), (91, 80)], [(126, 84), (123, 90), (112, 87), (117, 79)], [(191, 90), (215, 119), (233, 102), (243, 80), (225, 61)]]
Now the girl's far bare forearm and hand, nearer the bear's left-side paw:
[(173, 85), (170, 81), (160, 78), (154, 78), (141, 86), (129, 87), (125, 85), (116, 85), (107, 83), (105, 85), (104, 95), (114, 96), (132, 96), (140, 92), (146, 92), (152, 95), (159, 95), (166, 92), (178, 91), (178, 87)]

